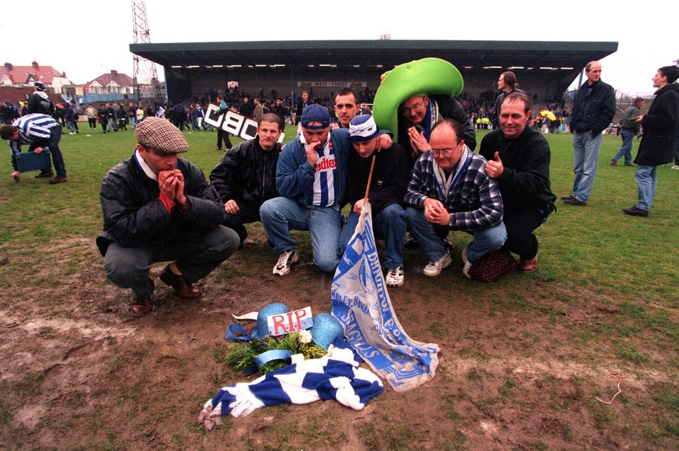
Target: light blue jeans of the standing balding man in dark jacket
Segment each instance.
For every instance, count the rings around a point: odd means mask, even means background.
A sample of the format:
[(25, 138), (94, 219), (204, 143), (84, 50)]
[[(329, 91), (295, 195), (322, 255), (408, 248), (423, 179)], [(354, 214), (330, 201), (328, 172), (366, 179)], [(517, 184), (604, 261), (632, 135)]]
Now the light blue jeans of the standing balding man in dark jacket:
[(576, 131), (573, 135), (573, 197), (584, 204), (587, 203), (594, 185), (602, 138), (602, 134), (592, 136), (589, 131)]

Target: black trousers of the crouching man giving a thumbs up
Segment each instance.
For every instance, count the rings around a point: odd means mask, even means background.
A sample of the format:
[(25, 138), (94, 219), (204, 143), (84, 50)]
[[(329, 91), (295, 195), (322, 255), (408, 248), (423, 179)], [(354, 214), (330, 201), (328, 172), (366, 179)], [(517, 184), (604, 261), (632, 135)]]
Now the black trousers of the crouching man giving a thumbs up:
[(504, 249), (518, 254), (522, 260), (530, 260), (538, 254), (538, 238), (533, 231), (542, 224), (543, 214), (540, 209), (505, 209), (504, 225), (507, 228), (507, 240)]

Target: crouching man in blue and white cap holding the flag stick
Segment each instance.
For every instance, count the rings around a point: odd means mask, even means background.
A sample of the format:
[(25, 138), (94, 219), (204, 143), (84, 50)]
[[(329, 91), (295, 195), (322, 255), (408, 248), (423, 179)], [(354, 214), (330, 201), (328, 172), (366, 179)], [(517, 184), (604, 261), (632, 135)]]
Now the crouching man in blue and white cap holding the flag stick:
[(356, 116), (349, 122), (349, 141), (352, 141), (355, 150), (349, 151), (347, 179), (347, 198), (352, 211), (340, 235), (340, 250), (347, 247), (359, 222), (370, 176), (371, 156), (375, 154), (375, 168), (368, 191), (373, 227), (376, 235), (384, 239), (387, 286), (401, 286), (404, 281), (403, 240), (407, 228), (403, 197), (410, 180), (410, 160), (405, 147), (400, 144), (392, 144), (376, 153), (379, 132), (371, 115)]

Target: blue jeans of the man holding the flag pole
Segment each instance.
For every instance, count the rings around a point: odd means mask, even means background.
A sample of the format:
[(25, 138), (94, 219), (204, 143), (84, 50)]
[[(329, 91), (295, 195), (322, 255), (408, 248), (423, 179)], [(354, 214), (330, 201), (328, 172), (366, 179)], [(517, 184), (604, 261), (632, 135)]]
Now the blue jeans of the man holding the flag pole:
[[(340, 252), (344, 252), (358, 223), (359, 215), (354, 211), (349, 213), (340, 235)], [(397, 268), (403, 264), (403, 241), (407, 226), (407, 215), (399, 204), (391, 204), (373, 216), (375, 235), (384, 240), (384, 266), (387, 269)]]

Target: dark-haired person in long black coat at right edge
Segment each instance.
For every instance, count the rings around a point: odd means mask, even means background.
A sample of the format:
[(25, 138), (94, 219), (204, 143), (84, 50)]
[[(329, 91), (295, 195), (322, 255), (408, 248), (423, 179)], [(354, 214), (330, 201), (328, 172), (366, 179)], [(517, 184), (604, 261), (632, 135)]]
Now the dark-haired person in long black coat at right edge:
[(658, 88), (654, 93), (655, 100), (646, 115), (635, 121), (644, 127), (644, 136), (639, 144), (639, 152), (634, 163), (637, 172), (639, 201), (637, 205), (622, 209), (632, 216), (649, 216), (651, 203), (656, 194), (656, 170), (658, 165), (671, 163), (674, 156), (674, 144), (677, 134), (677, 118), (679, 115), (679, 86), (673, 85), (679, 78), (679, 67), (664, 66), (658, 69), (653, 77), (653, 86)]

